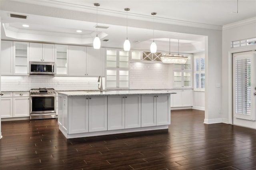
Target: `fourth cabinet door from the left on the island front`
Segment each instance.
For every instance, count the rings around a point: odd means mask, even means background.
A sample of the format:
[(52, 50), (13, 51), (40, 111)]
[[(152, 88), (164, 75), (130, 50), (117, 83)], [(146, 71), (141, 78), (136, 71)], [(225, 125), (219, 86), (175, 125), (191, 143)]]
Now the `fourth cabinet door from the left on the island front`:
[(125, 128), (141, 127), (141, 95), (125, 97)]

